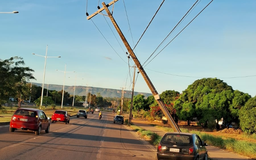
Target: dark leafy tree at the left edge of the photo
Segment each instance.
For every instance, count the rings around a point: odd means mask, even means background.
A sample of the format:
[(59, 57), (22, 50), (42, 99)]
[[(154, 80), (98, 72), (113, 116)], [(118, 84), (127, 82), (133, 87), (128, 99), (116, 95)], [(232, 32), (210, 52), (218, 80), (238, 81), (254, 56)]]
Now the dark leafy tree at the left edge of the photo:
[(35, 79), (33, 69), (24, 67), (23, 58), (15, 56), (10, 59), (0, 59), (0, 104), (9, 96), (17, 97), (20, 107), (26, 80)]

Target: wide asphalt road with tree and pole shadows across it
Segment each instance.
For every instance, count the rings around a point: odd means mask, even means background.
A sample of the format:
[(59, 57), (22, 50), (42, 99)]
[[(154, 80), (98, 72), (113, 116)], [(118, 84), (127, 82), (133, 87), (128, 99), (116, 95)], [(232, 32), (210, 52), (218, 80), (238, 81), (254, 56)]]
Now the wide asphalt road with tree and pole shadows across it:
[(113, 114), (88, 114), (72, 117), (70, 123), (50, 124), (50, 133), (15, 130), (0, 126), (0, 160), (148, 160), (155, 159), (156, 149), (128, 127), (113, 123)]

